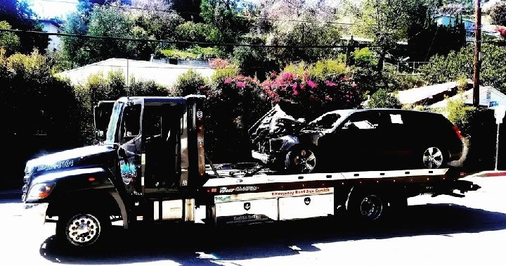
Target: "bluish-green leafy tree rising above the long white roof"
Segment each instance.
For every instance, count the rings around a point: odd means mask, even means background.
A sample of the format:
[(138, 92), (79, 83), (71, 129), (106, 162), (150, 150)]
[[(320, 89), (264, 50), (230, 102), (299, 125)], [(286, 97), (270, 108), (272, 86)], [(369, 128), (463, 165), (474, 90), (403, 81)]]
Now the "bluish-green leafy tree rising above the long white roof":
[[(134, 0), (136, 8), (120, 8), (120, 1), (91, 6), (82, 1), (77, 11), (67, 16), (63, 32), (126, 39), (176, 39), (176, 27), (181, 16), (170, 11), (164, 0)], [(148, 60), (164, 48), (157, 42), (136, 42), (117, 39), (85, 39), (62, 37), (63, 57), (74, 66), (86, 65), (108, 58)]]

